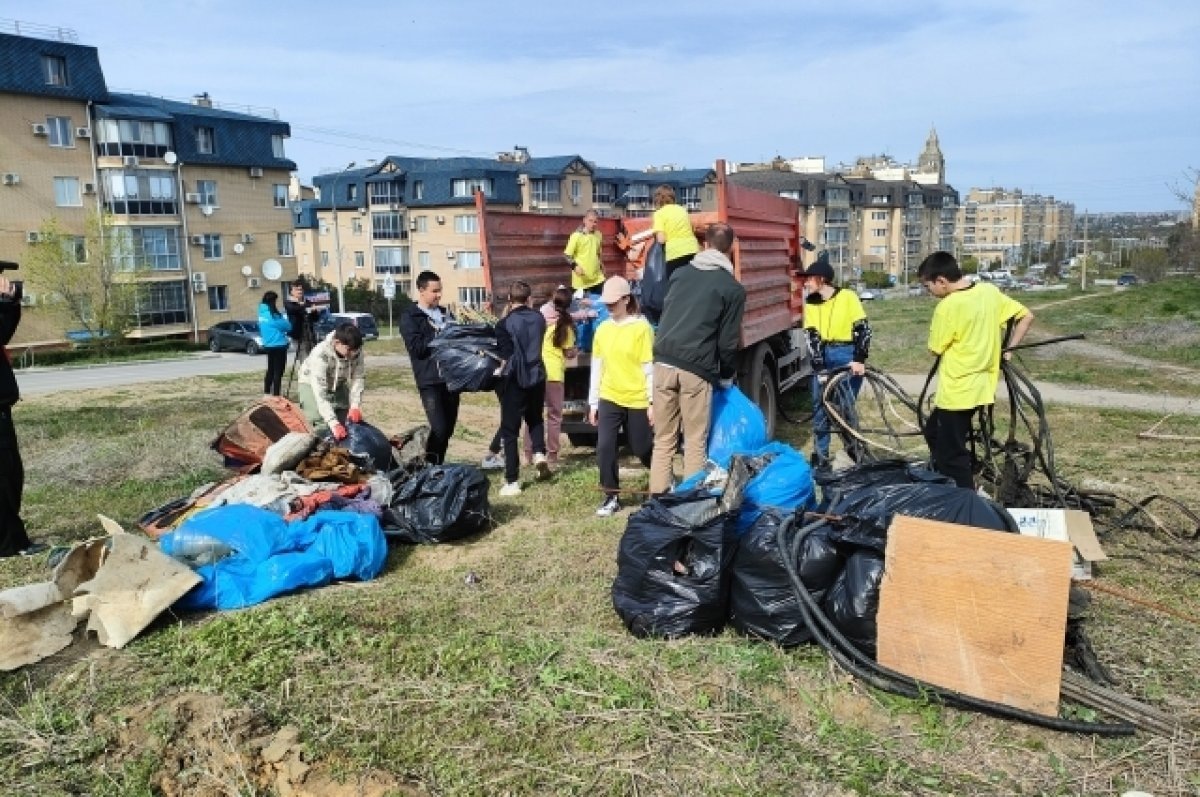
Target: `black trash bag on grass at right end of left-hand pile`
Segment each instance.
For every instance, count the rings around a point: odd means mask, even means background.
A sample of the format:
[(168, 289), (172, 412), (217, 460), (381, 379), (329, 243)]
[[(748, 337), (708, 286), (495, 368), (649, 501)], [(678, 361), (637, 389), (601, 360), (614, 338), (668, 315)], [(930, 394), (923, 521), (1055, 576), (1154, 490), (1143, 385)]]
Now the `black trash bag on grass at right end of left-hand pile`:
[(449, 543), (492, 522), (487, 477), (470, 465), (430, 466), (398, 485), (383, 513), (383, 532), (401, 543)]

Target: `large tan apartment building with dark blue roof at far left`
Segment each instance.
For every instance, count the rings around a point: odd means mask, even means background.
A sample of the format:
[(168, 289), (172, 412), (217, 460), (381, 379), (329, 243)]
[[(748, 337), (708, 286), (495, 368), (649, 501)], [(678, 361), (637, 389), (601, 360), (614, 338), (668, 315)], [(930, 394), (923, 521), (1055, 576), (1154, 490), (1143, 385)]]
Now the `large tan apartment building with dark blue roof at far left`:
[[(103, 214), (142, 287), (131, 337), (203, 340), (217, 320), (253, 317), (296, 274), (289, 126), (204, 94), (109, 91), (98, 52), (72, 31), (0, 31), (0, 259), (26, 259), (53, 218), (86, 268), (89, 216)], [(64, 341), (53, 292), (25, 288), (16, 342)]]

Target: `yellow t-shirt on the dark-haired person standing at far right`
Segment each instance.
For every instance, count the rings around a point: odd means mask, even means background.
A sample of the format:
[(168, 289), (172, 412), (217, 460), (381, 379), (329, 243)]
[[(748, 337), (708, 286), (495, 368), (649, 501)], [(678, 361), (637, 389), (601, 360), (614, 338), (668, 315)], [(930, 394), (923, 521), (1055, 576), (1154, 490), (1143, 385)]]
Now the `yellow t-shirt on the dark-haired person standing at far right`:
[(929, 325), (929, 350), (942, 355), (934, 406), (973, 409), (996, 403), (1002, 326), (1027, 312), (1025, 305), (986, 282), (938, 301)]

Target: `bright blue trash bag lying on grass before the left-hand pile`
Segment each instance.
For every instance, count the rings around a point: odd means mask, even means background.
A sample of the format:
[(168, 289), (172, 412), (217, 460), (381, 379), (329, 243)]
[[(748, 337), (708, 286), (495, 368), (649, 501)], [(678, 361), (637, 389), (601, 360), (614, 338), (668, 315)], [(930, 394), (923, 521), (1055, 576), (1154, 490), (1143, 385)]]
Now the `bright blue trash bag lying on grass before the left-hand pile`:
[(230, 504), (188, 517), (158, 546), (170, 553), (193, 538), (233, 553), (196, 569), (203, 581), (175, 604), (181, 610), (242, 609), (335, 577), (373, 579), (388, 555), (379, 521), (358, 513), (322, 511), (287, 523), (265, 509)]

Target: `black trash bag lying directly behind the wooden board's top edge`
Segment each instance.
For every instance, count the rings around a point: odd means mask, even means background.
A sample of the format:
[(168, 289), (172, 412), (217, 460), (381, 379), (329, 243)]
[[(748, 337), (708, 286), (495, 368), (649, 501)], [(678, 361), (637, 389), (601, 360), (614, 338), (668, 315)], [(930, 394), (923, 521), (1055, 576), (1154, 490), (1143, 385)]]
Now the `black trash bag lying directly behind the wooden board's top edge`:
[(839, 523), (835, 539), (880, 552), (887, 546), (887, 531), (895, 515), (924, 517), (943, 523), (1016, 534), (1016, 521), (1003, 507), (974, 490), (953, 484), (893, 484), (859, 487), (839, 496), (829, 513), (847, 517)]

